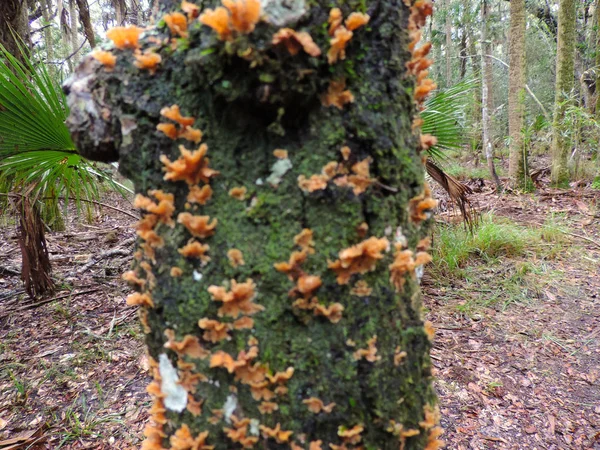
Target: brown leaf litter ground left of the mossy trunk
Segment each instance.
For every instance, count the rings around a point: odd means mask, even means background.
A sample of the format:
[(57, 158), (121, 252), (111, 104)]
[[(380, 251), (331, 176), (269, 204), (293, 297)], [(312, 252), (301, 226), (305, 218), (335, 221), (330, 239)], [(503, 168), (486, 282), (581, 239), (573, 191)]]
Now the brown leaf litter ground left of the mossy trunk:
[[(132, 210), (124, 199), (108, 202)], [(135, 220), (110, 209), (91, 225), (73, 217), (66, 231), (47, 235), (59, 281), (56, 299), (41, 305), (19, 281), (15, 226), (0, 228), (0, 449), (11, 441), (23, 449), (139, 448), (147, 359), (120, 280)]]

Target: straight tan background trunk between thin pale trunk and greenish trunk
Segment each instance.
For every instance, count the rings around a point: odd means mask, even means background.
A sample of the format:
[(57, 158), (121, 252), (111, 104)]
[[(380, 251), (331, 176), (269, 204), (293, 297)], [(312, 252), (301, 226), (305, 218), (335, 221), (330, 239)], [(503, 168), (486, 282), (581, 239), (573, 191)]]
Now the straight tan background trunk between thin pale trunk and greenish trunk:
[(509, 31), (510, 69), (508, 77), (508, 132), (510, 159), (508, 174), (511, 182), (526, 187), (528, 180), (527, 150), (523, 143), (525, 115), (525, 2), (510, 2)]

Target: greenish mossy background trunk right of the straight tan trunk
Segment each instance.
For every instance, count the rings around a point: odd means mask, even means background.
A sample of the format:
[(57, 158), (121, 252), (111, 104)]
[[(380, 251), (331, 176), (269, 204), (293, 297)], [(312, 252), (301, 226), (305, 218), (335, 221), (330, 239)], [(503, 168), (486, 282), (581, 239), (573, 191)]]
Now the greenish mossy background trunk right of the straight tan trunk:
[(556, 97), (552, 124), (552, 183), (565, 185), (569, 181), (569, 143), (563, 135), (562, 117), (575, 80), (576, 42), (575, 0), (560, 0), (558, 9), (558, 45), (556, 50)]

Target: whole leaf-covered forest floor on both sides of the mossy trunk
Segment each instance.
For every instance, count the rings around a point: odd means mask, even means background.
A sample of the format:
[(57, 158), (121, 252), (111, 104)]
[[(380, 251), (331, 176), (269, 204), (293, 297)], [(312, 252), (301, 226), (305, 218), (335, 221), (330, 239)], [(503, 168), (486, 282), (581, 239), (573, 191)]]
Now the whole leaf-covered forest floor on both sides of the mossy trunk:
[[(447, 448), (600, 449), (600, 195), (478, 185), (485, 226), (469, 235), (442, 211), (423, 283)], [(59, 284), (37, 302), (15, 226), (0, 227), (0, 449), (139, 447), (148, 363), (120, 281), (134, 222), (103, 208), (49, 233)]]

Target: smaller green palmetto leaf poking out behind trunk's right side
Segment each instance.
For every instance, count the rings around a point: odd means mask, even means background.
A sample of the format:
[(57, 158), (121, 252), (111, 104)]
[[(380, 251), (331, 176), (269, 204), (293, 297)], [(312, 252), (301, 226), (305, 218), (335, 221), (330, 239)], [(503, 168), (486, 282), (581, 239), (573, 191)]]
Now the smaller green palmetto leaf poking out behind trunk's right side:
[(463, 80), (436, 91), (425, 102), (421, 131), (437, 138), (437, 144), (427, 151), (430, 157), (444, 159), (444, 150), (458, 149), (465, 143), (465, 108), (477, 85), (477, 80)]

